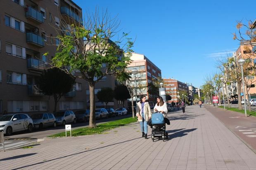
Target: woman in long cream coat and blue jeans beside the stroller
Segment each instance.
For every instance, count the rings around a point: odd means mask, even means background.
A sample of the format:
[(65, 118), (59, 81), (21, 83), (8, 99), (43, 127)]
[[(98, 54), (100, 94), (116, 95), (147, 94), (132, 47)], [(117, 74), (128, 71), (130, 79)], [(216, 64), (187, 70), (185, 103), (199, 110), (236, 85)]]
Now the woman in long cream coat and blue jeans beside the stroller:
[(147, 121), (151, 118), (151, 109), (149, 103), (146, 102), (146, 96), (142, 95), (142, 98), (137, 102), (136, 116), (140, 122), (140, 129), (142, 137), (147, 139)]

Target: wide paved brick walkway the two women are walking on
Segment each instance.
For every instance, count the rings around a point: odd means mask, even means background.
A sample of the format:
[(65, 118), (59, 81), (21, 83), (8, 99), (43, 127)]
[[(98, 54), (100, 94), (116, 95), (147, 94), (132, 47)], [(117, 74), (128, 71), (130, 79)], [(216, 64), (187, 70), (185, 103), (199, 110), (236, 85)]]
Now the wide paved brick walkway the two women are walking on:
[[(205, 108), (172, 112), (171, 140), (141, 138), (138, 123), (101, 135), (56, 138), (0, 154), (0, 169), (255, 170), (256, 154)], [(149, 136), (150, 137), (150, 136)]]

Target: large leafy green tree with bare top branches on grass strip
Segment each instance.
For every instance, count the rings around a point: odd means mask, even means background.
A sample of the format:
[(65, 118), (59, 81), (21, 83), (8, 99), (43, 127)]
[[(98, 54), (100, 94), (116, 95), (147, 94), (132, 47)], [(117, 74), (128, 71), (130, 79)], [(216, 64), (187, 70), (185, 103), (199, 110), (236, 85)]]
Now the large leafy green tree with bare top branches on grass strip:
[[(89, 127), (95, 128), (95, 84), (107, 75), (119, 77), (125, 71), (133, 42), (126, 33), (119, 38), (119, 20), (111, 18), (107, 10), (99, 14), (96, 9), (95, 13), (86, 14), (83, 26), (71, 24), (66, 30), (68, 35), (58, 35), (60, 44), (52, 62), (59, 68), (69, 66), (69, 71), (79, 70), (89, 83)], [(117, 40), (112, 41), (114, 38)]]

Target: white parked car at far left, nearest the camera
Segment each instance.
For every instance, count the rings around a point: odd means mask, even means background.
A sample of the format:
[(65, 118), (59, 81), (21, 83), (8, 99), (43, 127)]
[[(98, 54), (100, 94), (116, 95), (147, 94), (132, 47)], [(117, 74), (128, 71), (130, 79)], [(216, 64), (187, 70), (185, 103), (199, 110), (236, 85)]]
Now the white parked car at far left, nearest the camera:
[(0, 116), (0, 130), (4, 130), (4, 134), (12, 135), (13, 132), (28, 130), (32, 132), (33, 121), (28, 114), (6, 114)]

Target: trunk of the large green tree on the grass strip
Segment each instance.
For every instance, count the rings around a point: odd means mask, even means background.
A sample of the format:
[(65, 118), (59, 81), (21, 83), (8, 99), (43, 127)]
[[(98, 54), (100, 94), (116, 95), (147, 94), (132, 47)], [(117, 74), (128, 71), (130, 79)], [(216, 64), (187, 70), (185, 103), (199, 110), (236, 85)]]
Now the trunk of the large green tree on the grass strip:
[(94, 88), (95, 88), (95, 84), (89, 82), (89, 91), (90, 91), (90, 121), (89, 121), (89, 127), (90, 128), (96, 128)]

